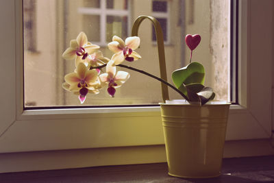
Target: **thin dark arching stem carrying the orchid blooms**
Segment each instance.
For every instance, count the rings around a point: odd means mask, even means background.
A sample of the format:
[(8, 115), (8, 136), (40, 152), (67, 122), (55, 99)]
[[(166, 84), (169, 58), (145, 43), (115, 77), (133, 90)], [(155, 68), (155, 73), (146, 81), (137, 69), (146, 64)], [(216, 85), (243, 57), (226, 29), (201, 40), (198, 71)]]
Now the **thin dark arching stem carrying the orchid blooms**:
[[(107, 64), (103, 64), (103, 65), (101, 65), (101, 66), (92, 66), (92, 67), (90, 67), (90, 70), (91, 70), (91, 69), (101, 69), (101, 68), (105, 67), (106, 65), (107, 65)], [(188, 97), (186, 97), (186, 95), (184, 95), (184, 93), (182, 93), (180, 90), (178, 90), (177, 88), (175, 88), (173, 85), (169, 84), (168, 82), (162, 80), (160, 77), (157, 77), (157, 76), (155, 76), (155, 75), (152, 75), (152, 74), (150, 74), (150, 73), (147, 73), (146, 71), (142, 71), (142, 70), (140, 70), (140, 69), (136, 69), (136, 68), (134, 68), (134, 67), (132, 67), (132, 66), (126, 66), (126, 65), (123, 65), (123, 64), (118, 64), (118, 65), (116, 65), (116, 66), (120, 66), (120, 67), (123, 67), (123, 68), (126, 68), (126, 69), (130, 69), (130, 70), (132, 70), (132, 71), (136, 71), (136, 72), (138, 72), (138, 73), (145, 74), (145, 75), (147, 75), (147, 76), (149, 76), (149, 77), (153, 77), (155, 80), (158, 80), (158, 81), (160, 81), (160, 82), (166, 84), (166, 86), (169, 86), (169, 87), (173, 88), (173, 90), (175, 90), (177, 93), (179, 93), (179, 95), (182, 95), (182, 97), (184, 97), (184, 99), (186, 99), (187, 101), (189, 101)]]

